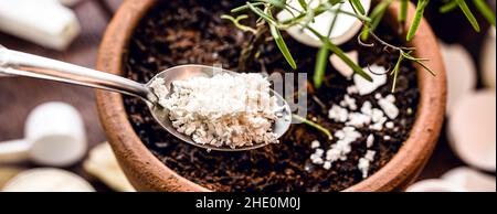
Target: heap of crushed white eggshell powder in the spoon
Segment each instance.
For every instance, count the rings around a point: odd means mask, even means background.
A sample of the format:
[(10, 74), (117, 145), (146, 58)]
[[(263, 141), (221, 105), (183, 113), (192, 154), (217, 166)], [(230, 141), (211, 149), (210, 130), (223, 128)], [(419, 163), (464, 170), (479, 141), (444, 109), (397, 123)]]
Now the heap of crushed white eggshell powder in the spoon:
[(231, 148), (278, 142), (272, 126), (283, 107), (261, 74), (175, 81), (170, 95), (162, 78), (151, 84), (179, 132), (200, 145)]

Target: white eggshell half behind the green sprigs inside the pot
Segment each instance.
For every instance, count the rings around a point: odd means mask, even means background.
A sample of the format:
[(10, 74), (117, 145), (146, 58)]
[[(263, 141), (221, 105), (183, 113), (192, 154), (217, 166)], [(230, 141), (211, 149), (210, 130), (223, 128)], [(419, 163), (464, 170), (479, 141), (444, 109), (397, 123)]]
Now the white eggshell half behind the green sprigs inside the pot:
[[(306, 2), (309, 2), (309, 0), (306, 0)], [(314, 2), (317, 3), (318, 1), (314, 1)], [(300, 11), (303, 10), (303, 8), (300, 7), (300, 4), (298, 3), (297, 0), (290, 0), (290, 1), (288, 1), (288, 3), (292, 7), (298, 9)], [(369, 9), (371, 7), (371, 0), (362, 0), (361, 3), (362, 3), (362, 7), (364, 8), (364, 10), (369, 11)], [(310, 6), (310, 7), (313, 7), (313, 6)], [(316, 6), (314, 6), (314, 7), (316, 7)], [(335, 6), (334, 8), (338, 9), (339, 4)], [(353, 9), (349, 2), (342, 3), (341, 10), (353, 13)], [(298, 13), (298, 11), (294, 10), (294, 13)], [(279, 12), (276, 17), (279, 21), (284, 21), (284, 20), (288, 20), (288, 19), (293, 18), (292, 13), (286, 10)], [(315, 18), (315, 21), (309, 23), (309, 26), (315, 29), (317, 32), (319, 32), (319, 34), (327, 35), (335, 17), (336, 17), (335, 12), (330, 12), (330, 11), (324, 12), (324, 13), (317, 15)], [(350, 39), (352, 39), (359, 32), (361, 26), (362, 26), (362, 22), (359, 21), (357, 18), (340, 13), (337, 15), (337, 21), (335, 22), (335, 28), (332, 29), (329, 38), (334, 44), (337, 44), (337, 45), (343, 44), (347, 41), (349, 41)], [(320, 47), (322, 45), (322, 43), (319, 41), (319, 39), (316, 35), (314, 35), (307, 29), (304, 29), (304, 31), (302, 31), (302, 26), (299, 26), (299, 25), (295, 25), (295, 26), (287, 29), (287, 32), (295, 40), (297, 40), (298, 42), (300, 42), (303, 44), (314, 46), (314, 47)]]

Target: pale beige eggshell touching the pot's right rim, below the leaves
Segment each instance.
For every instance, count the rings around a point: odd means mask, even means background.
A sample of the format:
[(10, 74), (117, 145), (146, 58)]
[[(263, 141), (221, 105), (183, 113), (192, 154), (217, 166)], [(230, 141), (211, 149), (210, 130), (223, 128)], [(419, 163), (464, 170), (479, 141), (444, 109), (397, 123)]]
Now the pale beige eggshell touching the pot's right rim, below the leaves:
[(455, 103), (476, 87), (476, 66), (469, 53), (461, 45), (442, 44), (442, 56), (447, 72), (447, 115)]

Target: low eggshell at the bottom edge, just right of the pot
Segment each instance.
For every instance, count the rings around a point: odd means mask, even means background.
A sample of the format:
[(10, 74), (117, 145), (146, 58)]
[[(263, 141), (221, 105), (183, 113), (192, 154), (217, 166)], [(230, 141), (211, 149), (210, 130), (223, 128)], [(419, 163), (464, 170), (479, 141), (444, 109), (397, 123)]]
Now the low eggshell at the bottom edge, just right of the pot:
[(412, 184), (405, 192), (467, 192), (467, 190), (450, 181), (427, 179)]

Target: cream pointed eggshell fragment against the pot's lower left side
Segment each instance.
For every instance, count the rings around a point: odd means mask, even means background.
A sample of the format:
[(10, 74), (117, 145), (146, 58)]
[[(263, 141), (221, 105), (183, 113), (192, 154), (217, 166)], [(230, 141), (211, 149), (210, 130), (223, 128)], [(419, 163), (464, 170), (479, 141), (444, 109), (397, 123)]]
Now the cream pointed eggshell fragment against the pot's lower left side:
[(107, 142), (92, 149), (88, 159), (83, 163), (83, 168), (116, 191), (135, 191), (117, 163), (116, 157)]

